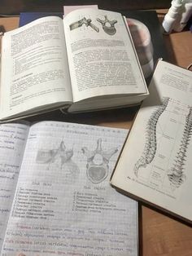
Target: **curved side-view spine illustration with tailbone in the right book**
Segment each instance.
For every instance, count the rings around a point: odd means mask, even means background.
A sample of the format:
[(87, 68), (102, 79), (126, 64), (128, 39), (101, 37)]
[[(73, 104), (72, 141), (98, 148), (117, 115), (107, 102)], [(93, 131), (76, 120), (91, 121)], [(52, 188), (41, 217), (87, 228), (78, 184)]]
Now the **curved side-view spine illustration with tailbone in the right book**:
[(150, 164), (155, 157), (156, 147), (157, 147), (156, 126), (157, 126), (159, 117), (161, 116), (162, 113), (164, 113), (164, 110), (168, 106), (168, 101), (169, 101), (169, 98), (165, 97), (163, 99), (163, 103), (155, 109), (155, 112), (151, 114), (150, 119), (147, 121), (145, 147), (142, 153), (142, 157), (140, 157), (137, 160), (137, 163), (134, 166), (134, 174), (136, 176), (138, 174), (139, 168), (146, 167), (146, 165)]

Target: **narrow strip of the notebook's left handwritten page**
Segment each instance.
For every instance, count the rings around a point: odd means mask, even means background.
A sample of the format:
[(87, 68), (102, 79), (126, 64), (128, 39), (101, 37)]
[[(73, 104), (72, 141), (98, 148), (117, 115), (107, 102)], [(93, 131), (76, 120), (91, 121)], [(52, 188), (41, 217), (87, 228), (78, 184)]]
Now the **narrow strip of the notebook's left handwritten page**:
[(27, 137), (28, 126), (14, 123), (0, 126), (0, 249), (2, 249)]

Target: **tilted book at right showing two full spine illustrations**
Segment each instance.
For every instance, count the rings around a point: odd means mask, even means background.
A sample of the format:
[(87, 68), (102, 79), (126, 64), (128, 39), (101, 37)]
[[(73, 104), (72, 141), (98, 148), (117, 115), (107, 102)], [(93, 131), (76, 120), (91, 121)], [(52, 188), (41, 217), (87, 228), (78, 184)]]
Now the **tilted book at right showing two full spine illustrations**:
[(192, 72), (159, 60), (111, 184), (192, 223)]

